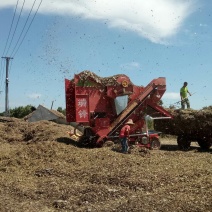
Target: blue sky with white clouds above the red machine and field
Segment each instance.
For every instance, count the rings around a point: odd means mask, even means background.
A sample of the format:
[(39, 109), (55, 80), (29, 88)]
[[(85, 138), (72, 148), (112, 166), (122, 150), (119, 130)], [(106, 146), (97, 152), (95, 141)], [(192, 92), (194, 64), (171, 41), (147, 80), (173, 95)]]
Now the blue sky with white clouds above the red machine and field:
[[(101, 77), (125, 74), (143, 86), (166, 77), (165, 107), (180, 100), (187, 81), (191, 107), (210, 106), (211, 23), (211, 0), (0, 1), (0, 53), (13, 57), (9, 107), (50, 108), (54, 102), (53, 109), (65, 108), (64, 79), (84, 70)], [(1, 59), (0, 112), (5, 64)]]

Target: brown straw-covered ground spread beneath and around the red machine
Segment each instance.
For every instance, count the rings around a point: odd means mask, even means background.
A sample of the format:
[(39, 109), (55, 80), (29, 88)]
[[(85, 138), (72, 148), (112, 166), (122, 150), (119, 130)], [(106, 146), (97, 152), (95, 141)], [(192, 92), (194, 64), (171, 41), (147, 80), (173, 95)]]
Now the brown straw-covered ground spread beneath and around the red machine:
[(70, 129), (0, 118), (0, 211), (211, 211), (211, 151), (79, 148)]

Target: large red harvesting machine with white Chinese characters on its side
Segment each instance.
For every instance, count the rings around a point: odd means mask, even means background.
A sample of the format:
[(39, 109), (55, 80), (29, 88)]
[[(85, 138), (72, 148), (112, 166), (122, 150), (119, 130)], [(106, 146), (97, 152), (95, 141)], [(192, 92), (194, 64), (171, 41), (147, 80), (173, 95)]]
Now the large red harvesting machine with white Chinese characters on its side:
[(148, 118), (172, 118), (158, 105), (166, 91), (166, 79), (153, 79), (146, 87), (134, 85), (124, 74), (99, 77), (93, 72), (65, 79), (66, 119), (83, 129), (79, 143), (101, 147), (118, 139), (123, 124), (132, 119), (130, 143), (159, 149), (160, 132), (148, 130)]

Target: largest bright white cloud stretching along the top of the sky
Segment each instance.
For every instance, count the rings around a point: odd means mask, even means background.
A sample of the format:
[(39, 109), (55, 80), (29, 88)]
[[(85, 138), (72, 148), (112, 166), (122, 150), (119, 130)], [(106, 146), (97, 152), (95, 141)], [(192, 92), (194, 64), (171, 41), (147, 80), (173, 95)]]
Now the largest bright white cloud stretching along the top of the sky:
[[(15, 7), (16, 0), (0, 2), (1, 7)], [(19, 1), (19, 8), (22, 1)], [(24, 8), (30, 10), (34, 0)], [(45, 0), (39, 9), (43, 14), (80, 16), (104, 21), (108, 27), (137, 33), (155, 43), (164, 43), (180, 30), (194, 10), (197, 0)], [(34, 10), (40, 1), (37, 1)]]

